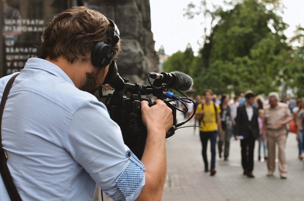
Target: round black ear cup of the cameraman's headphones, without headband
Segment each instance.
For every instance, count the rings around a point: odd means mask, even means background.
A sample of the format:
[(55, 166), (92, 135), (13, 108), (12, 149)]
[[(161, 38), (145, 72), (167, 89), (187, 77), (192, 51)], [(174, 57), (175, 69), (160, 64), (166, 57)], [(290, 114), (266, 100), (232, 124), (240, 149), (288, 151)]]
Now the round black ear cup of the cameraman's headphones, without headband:
[[(106, 59), (105, 57), (107, 56), (108, 51), (109, 51), (109, 45), (107, 45), (104, 42), (97, 43), (93, 47), (92, 53), (91, 53), (92, 64), (94, 66), (96, 66), (96, 67), (105, 67), (105, 66), (107, 66), (109, 63), (107, 65), (104, 65), (105, 63), (103, 61), (104, 61), (104, 59)], [(110, 59), (110, 61), (111, 61), (111, 59)]]

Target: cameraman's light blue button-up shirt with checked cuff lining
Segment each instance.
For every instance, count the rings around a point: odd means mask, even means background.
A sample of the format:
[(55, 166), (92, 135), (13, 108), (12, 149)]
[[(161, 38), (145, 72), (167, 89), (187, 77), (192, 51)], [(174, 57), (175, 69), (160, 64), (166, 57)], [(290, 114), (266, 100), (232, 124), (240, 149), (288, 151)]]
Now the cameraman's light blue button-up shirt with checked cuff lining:
[[(0, 79), (0, 98), (11, 77)], [(23, 201), (93, 200), (96, 183), (112, 199), (129, 201), (145, 184), (143, 164), (105, 105), (46, 60), (30, 58), (16, 77), (2, 144)], [(0, 195), (10, 200), (2, 178)]]

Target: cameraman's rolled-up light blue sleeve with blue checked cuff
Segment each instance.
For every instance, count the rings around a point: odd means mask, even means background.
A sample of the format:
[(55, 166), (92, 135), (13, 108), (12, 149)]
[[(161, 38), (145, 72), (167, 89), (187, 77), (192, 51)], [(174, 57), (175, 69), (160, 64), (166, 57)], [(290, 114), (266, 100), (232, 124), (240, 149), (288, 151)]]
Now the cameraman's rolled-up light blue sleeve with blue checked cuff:
[(124, 144), (104, 104), (88, 101), (75, 111), (67, 151), (113, 200), (135, 200), (145, 184), (140, 160)]

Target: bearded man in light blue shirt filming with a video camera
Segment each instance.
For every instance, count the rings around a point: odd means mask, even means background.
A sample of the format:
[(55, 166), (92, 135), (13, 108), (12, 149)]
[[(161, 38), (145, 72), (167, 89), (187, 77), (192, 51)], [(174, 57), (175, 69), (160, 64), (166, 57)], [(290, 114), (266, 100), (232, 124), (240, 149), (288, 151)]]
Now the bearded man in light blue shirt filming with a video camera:
[[(3, 112), (2, 144), (22, 200), (92, 200), (96, 183), (114, 200), (161, 200), (171, 109), (161, 100), (152, 107), (141, 102), (147, 142), (140, 161), (92, 95), (109, 64), (93, 65), (91, 52), (103, 42), (118, 55), (114, 25), (86, 7), (60, 13), (43, 33), (40, 58), (29, 59), (16, 77)], [(0, 79), (1, 96), (15, 74)], [(10, 200), (2, 178), (0, 194)]]

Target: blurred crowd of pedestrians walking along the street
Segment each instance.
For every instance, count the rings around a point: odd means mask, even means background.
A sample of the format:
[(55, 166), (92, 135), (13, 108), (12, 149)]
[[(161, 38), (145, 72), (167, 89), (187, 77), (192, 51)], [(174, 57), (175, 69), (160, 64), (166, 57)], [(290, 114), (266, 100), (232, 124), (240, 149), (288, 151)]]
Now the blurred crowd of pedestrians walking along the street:
[[(303, 159), (304, 100), (283, 99), (271, 92), (267, 97), (248, 90), (230, 98), (212, 90), (196, 96), (195, 124), (199, 122), (202, 156), (205, 172), (216, 174), (216, 142), (219, 158), (229, 160), (230, 140), (240, 140), (243, 174), (254, 178), (254, 147), (258, 141), (258, 161), (267, 162), (267, 176), (275, 171), (275, 145), (278, 145), (278, 169), (282, 179), (287, 178), (285, 141), (288, 133), (295, 133), (299, 142), (299, 159)], [(192, 110), (188, 114), (192, 114)], [(194, 127), (195, 128), (195, 127)], [(218, 140), (217, 140), (218, 137)], [(211, 144), (211, 165), (207, 158), (207, 143)], [(223, 155), (222, 155), (223, 154)], [(209, 169), (210, 167), (210, 169)]]

